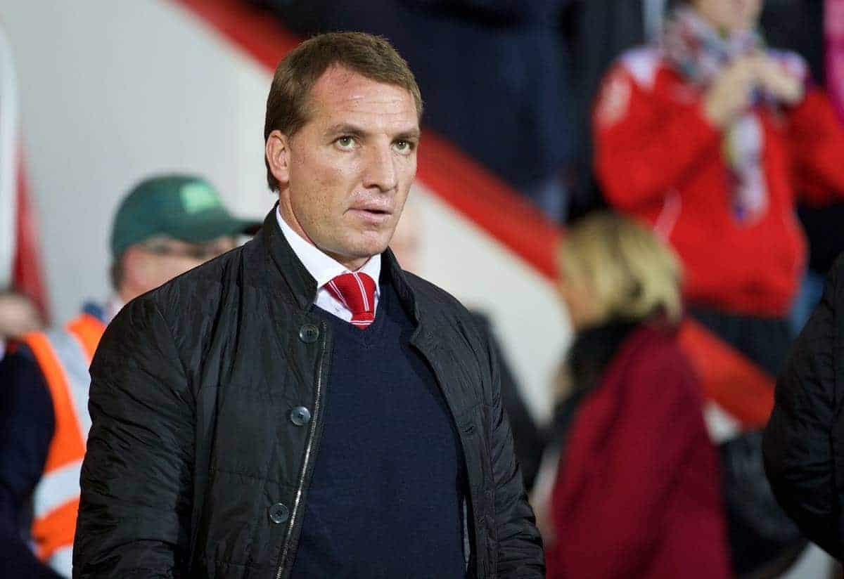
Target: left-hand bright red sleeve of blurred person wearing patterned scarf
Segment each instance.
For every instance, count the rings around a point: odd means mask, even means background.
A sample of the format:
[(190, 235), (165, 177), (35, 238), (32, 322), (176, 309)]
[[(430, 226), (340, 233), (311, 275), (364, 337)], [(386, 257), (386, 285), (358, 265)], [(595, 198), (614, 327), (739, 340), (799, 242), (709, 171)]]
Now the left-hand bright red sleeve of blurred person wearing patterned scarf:
[(661, 201), (701, 158), (717, 153), (721, 134), (699, 103), (658, 100), (623, 63), (603, 80), (592, 126), (595, 172), (622, 211)]

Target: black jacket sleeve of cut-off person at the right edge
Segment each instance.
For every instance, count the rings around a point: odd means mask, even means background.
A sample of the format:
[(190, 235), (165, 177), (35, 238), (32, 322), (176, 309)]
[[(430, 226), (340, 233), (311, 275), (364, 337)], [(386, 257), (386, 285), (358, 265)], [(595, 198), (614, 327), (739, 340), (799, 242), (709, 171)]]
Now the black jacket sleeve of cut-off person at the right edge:
[[(836, 307), (841, 299), (839, 258), (824, 296), (803, 328), (776, 383), (762, 452), (776, 500), (809, 539), (841, 558), (841, 469), (844, 442), (836, 419), (836, 379), (841, 378)], [(836, 453), (837, 448), (837, 453)]]

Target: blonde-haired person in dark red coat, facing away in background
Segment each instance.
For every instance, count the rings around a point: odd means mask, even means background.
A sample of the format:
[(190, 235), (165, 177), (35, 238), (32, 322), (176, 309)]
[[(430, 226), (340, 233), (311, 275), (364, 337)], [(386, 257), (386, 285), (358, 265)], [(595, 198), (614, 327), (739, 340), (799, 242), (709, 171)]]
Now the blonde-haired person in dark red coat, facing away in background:
[(555, 413), (549, 579), (730, 576), (716, 453), (675, 332), (679, 261), (612, 214), (571, 228), (560, 258), (576, 335)]

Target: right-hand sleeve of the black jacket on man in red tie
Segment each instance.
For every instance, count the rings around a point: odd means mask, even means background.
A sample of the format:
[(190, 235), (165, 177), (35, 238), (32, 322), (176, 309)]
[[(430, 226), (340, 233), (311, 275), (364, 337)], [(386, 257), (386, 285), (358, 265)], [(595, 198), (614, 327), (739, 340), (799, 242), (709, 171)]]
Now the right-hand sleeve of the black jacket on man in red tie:
[(522, 474), (513, 453), (513, 437), (501, 401), (500, 362), (486, 334), (493, 383), (491, 455), (495, 484), (498, 576), (544, 577), (542, 538), (527, 502)]

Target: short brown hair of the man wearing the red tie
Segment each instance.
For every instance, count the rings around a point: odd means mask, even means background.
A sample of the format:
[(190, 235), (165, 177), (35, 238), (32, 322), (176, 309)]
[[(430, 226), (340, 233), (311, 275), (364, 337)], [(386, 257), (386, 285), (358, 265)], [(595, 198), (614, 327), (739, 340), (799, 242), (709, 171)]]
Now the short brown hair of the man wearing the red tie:
[[(416, 112), (422, 116), (422, 95), (414, 73), (387, 39), (364, 32), (329, 32), (302, 42), (276, 67), (267, 97), (264, 142), (273, 131), (292, 137), (305, 125), (311, 88), (332, 66), (404, 88), (413, 96)], [(264, 163), (269, 188), (278, 190), (279, 182), (269, 170), (266, 158)]]

